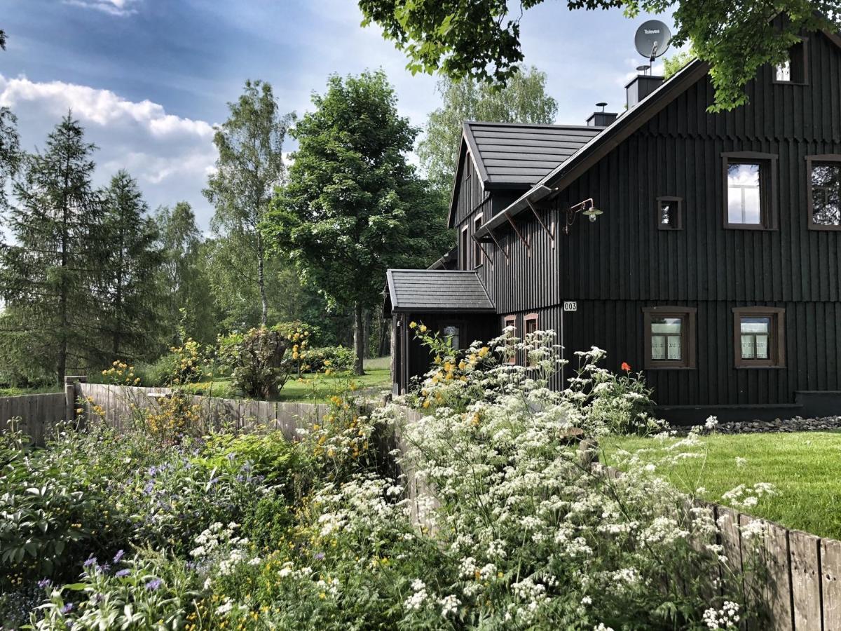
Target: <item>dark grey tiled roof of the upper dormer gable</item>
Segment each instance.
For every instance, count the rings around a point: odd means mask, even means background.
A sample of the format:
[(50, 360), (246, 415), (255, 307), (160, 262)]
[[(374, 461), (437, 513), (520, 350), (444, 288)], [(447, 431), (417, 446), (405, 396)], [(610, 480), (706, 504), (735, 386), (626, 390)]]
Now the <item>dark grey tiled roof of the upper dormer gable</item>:
[(463, 138), (484, 188), (516, 188), (539, 182), (602, 129), (466, 121)]

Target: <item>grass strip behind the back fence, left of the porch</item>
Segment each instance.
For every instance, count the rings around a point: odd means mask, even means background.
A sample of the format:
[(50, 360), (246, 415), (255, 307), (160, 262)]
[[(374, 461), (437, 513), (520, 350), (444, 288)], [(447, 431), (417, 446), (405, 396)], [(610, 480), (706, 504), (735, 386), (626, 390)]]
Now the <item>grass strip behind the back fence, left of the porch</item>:
[[(365, 361), (365, 373), (360, 377), (349, 372), (334, 374), (304, 374), (299, 381), (291, 378), (283, 386), (278, 400), (322, 403), (336, 392), (347, 390), (351, 384), (357, 390), (386, 390), (391, 387), (389, 358), (374, 358)], [(212, 388), (211, 388), (212, 386)], [(237, 398), (239, 395), (227, 379), (190, 384), (189, 390), (196, 395), (212, 393), (222, 398)]]

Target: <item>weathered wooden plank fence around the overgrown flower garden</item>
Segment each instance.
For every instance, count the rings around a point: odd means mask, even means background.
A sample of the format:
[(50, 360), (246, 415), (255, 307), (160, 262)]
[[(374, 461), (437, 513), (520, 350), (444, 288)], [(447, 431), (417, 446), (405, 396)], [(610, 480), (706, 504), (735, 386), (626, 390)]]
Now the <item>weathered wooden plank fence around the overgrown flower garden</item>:
[[(166, 389), (130, 388), (104, 384), (77, 383), (66, 393), (26, 395), (0, 398), (0, 422), (13, 416), (22, 418), (22, 429), (43, 441), (45, 427), (61, 421), (84, 398), (82, 408), (91, 415), (102, 413), (105, 422), (114, 427), (128, 427), (133, 416), (132, 407), (159, 405)], [(194, 397), (201, 406), (202, 420), (214, 426), (228, 422), (241, 431), (259, 427), (280, 429), (288, 439), (294, 439), (296, 430), (317, 422), (327, 412), (328, 406), (306, 403), (278, 403)], [(410, 420), (423, 415), (405, 410)], [(403, 437), (395, 435), (383, 448), (405, 451)], [(616, 478), (621, 473), (610, 467), (600, 467), (606, 475)], [(404, 469), (412, 517), (416, 522), (429, 526), (424, 519), (425, 507), (436, 506), (436, 498), (423, 480), (414, 472)], [(767, 523), (764, 540), (743, 538), (739, 526), (747, 525), (755, 517), (744, 515), (725, 506), (711, 506), (719, 524), (719, 541), (724, 554), (736, 568), (744, 565), (749, 554), (758, 554), (764, 565), (762, 581), (758, 586), (759, 598), (770, 612), (770, 626), (774, 631), (841, 631), (841, 542), (819, 538), (809, 533), (789, 530), (774, 523)], [(751, 576), (746, 575), (746, 581)]]

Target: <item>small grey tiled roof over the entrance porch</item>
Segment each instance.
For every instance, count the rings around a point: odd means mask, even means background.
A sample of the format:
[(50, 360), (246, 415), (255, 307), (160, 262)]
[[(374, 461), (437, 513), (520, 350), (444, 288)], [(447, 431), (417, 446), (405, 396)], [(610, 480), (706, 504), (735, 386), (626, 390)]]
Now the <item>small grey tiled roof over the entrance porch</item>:
[(389, 269), (386, 278), (387, 316), (391, 312), (496, 313), (482, 281), (472, 271)]

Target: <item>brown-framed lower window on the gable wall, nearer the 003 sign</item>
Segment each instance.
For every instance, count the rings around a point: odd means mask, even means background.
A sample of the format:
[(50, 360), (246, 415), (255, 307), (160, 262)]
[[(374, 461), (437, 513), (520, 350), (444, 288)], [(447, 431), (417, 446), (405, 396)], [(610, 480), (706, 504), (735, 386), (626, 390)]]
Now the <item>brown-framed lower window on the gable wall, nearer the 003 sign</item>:
[(643, 309), (646, 369), (696, 368), (695, 307)]

